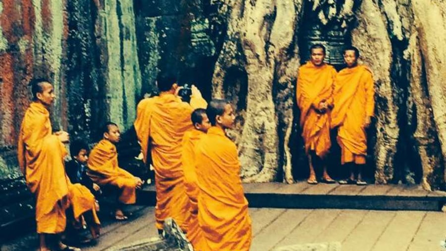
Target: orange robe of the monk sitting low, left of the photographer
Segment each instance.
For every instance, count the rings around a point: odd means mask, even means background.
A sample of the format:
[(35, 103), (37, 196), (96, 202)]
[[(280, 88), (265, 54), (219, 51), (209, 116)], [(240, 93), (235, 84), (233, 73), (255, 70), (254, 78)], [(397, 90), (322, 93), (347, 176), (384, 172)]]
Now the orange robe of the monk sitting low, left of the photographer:
[(101, 140), (88, 157), (88, 176), (93, 182), (105, 186), (110, 185), (120, 190), (118, 200), (124, 204), (136, 202), (135, 177), (119, 168), (117, 151), (113, 143)]

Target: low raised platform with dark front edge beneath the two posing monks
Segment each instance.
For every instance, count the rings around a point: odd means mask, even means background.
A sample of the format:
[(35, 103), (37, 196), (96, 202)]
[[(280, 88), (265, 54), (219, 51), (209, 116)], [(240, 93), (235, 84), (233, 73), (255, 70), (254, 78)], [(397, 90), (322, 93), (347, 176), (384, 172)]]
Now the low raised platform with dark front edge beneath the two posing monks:
[[(425, 191), (415, 185), (309, 185), (301, 181), (243, 187), (250, 207), (440, 211), (446, 203), (446, 192)], [(148, 186), (138, 202), (155, 205), (155, 196), (155, 187)]]

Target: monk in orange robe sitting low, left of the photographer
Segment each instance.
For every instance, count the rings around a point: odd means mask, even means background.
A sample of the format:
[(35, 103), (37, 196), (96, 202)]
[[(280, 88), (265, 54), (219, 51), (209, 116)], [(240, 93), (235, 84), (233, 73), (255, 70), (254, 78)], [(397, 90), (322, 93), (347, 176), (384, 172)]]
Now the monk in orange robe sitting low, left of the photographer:
[(120, 140), (120, 131), (117, 124), (107, 122), (102, 132), (104, 138), (93, 148), (88, 158), (87, 174), (94, 183), (119, 190), (114, 217), (116, 220), (127, 220), (128, 216), (122, 211), (120, 203), (134, 204), (136, 189), (140, 189), (143, 182), (118, 166), (115, 144)]

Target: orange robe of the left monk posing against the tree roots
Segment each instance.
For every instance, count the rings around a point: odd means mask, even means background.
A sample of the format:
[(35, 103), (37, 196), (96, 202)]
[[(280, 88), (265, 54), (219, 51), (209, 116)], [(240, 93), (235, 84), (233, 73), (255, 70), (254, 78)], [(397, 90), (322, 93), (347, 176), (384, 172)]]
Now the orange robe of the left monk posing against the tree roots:
[(315, 151), (324, 157), (332, 146), (330, 140), (330, 111), (320, 114), (319, 103), (326, 100), (333, 104), (333, 83), (336, 70), (324, 64), (320, 67), (307, 62), (299, 68), (297, 77), (297, 105), (300, 109), (300, 126), (305, 141), (305, 151)]

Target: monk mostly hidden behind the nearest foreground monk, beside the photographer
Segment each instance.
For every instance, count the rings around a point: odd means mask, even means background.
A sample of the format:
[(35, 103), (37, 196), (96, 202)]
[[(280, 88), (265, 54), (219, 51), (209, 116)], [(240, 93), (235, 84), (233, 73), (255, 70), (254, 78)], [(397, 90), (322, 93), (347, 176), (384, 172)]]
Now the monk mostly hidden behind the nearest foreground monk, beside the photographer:
[(195, 172), (195, 149), (198, 142), (206, 135), (211, 123), (203, 108), (195, 109), (191, 115), (194, 129), (187, 131), (183, 136), (181, 161), (183, 164), (184, 185), (189, 196), (190, 215), (187, 219), (187, 238), (192, 243), (194, 250), (203, 249), (203, 235), (198, 225), (198, 186)]

